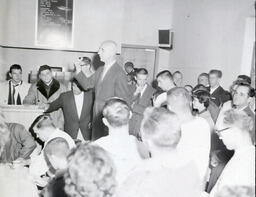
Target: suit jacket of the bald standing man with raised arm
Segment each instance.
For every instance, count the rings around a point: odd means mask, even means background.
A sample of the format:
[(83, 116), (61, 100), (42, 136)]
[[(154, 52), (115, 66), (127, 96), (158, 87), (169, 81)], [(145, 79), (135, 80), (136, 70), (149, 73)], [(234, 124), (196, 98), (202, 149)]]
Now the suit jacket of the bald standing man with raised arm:
[(117, 63), (105, 74), (103, 80), (101, 75), (104, 67), (100, 67), (96, 72), (87, 78), (82, 72), (77, 74), (75, 78), (79, 84), (85, 89), (95, 89), (95, 101), (93, 107), (93, 131), (92, 139), (96, 140), (108, 134), (102, 123), (102, 109), (105, 102), (111, 97), (120, 97), (130, 104), (131, 91), (127, 83), (127, 76)]

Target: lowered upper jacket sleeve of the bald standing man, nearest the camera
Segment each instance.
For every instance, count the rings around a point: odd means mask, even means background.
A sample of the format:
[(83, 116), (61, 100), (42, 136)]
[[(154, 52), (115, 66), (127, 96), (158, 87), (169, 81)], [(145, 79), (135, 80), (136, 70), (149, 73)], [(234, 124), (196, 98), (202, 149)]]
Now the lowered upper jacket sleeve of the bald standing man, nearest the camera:
[(127, 83), (125, 74), (119, 74), (115, 82), (115, 96), (124, 99), (129, 105), (132, 103), (132, 91)]

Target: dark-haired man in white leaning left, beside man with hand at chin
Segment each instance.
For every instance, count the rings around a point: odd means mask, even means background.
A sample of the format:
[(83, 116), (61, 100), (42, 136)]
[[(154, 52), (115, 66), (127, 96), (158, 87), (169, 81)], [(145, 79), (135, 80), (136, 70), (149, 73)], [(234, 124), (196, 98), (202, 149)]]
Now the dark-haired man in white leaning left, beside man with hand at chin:
[(166, 92), (176, 86), (173, 81), (173, 76), (169, 70), (163, 70), (160, 73), (158, 73), (156, 76), (156, 80), (158, 87), (161, 88), (164, 92), (154, 97), (153, 106), (161, 107), (167, 104)]

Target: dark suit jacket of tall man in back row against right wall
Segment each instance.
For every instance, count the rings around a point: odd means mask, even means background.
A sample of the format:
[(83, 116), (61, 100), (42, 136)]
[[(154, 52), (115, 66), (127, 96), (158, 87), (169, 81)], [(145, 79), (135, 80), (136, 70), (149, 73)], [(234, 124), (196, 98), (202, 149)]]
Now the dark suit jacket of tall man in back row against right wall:
[(231, 100), (231, 95), (228, 91), (224, 90), (221, 86), (219, 86), (211, 94), (211, 100), (219, 107), (226, 101)]

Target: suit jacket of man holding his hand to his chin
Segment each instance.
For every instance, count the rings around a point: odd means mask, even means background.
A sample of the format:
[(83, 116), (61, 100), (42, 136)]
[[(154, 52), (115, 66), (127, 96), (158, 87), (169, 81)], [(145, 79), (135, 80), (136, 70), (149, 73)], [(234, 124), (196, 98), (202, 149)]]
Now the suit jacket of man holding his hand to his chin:
[[(143, 113), (145, 109), (149, 106), (152, 106), (152, 100), (153, 94), (155, 93), (155, 89), (147, 85), (147, 88), (143, 92), (142, 96), (139, 98), (138, 101), (135, 101), (132, 107), (132, 118), (129, 123), (129, 130), (130, 134), (138, 137), (139, 131), (140, 131), (140, 125), (141, 121), (143, 119)], [(135, 98), (134, 98), (135, 99)]]

